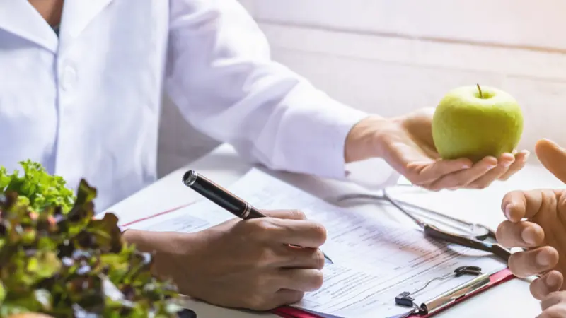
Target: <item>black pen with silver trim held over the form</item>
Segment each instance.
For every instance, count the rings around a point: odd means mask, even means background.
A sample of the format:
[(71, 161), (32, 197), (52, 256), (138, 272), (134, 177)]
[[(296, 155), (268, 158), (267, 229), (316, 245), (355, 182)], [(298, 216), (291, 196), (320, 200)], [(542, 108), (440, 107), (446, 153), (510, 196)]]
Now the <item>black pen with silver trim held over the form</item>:
[[(183, 184), (243, 220), (267, 217), (247, 201), (238, 198), (235, 194), (220, 187), (206, 177), (199, 175), (195, 170), (185, 172), (185, 175), (183, 175)], [(323, 254), (330, 263), (333, 262), (328, 255), (324, 252)]]

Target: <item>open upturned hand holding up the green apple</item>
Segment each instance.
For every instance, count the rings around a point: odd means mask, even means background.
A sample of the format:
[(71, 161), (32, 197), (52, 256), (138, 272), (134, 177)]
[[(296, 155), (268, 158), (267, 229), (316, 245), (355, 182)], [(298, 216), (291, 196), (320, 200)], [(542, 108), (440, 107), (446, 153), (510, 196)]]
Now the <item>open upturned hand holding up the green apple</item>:
[(434, 109), (412, 112), (383, 128), (383, 158), (410, 182), (440, 189), (483, 189), (497, 179), (508, 179), (521, 170), (528, 151), (486, 157), (473, 164), (468, 158), (442, 160), (432, 139)]

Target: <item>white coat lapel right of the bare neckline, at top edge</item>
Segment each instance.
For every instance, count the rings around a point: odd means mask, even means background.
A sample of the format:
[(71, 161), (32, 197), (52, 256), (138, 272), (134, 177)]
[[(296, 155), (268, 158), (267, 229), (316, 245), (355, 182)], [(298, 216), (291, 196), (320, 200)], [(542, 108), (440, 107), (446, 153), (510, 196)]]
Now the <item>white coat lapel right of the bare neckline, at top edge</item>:
[[(13, 1), (13, 0), (8, 0)], [(65, 1), (61, 21), (62, 40), (78, 37), (86, 26), (96, 18), (100, 11), (112, 0), (68, 0)], [(132, 4), (135, 5), (135, 4)], [(69, 38), (70, 37), (70, 38)]]

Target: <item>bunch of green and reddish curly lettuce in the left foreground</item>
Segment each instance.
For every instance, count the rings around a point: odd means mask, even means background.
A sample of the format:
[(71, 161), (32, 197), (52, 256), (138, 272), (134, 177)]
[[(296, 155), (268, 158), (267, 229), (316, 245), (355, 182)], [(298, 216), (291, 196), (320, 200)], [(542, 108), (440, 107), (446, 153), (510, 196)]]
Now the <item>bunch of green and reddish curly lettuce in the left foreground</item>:
[(151, 273), (153, 256), (122, 240), (118, 218), (96, 220), (96, 189), (76, 197), (37, 163), (0, 168), (0, 317), (178, 317), (178, 291)]

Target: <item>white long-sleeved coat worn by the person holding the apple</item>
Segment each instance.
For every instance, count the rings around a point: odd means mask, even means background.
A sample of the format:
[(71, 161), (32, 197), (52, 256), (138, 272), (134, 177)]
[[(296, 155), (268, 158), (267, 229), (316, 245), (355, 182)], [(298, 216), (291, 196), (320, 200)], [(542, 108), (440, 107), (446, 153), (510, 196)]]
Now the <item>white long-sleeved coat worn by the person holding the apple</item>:
[(0, 0), (0, 165), (84, 177), (101, 211), (156, 179), (162, 88), (249, 160), (323, 177), (344, 176), (366, 116), (271, 61), (236, 0), (69, 0), (59, 37), (28, 1)]

